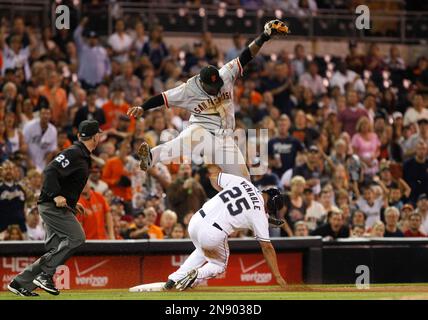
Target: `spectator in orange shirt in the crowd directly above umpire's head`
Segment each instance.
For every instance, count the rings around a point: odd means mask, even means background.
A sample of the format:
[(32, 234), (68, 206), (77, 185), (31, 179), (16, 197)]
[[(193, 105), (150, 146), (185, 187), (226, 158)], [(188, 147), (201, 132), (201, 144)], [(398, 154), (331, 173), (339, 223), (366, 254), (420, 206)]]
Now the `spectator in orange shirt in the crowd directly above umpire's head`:
[(63, 126), (67, 120), (67, 93), (60, 85), (61, 79), (58, 73), (50, 71), (46, 78), (46, 85), (39, 88), (40, 94), (49, 101), (52, 109), (52, 122), (56, 126)]

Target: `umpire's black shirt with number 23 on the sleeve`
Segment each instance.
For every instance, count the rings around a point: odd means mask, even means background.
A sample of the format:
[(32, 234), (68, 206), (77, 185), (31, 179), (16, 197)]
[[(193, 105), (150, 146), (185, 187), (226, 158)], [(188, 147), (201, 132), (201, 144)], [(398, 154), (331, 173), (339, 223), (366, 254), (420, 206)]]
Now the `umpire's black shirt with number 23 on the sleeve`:
[(81, 142), (61, 152), (43, 171), (44, 182), (39, 203), (52, 202), (57, 196), (74, 208), (85, 187), (91, 168), (91, 153)]

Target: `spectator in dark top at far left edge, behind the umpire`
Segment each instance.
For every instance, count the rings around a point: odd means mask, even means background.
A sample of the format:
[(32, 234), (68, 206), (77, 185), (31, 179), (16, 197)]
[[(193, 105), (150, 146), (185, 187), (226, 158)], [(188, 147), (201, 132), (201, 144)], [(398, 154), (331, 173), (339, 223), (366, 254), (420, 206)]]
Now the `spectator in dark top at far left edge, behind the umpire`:
[(10, 225), (18, 225), (21, 231), (26, 232), (24, 189), (17, 183), (14, 170), (15, 165), (5, 161), (1, 167), (0, 183), (0, 232)]

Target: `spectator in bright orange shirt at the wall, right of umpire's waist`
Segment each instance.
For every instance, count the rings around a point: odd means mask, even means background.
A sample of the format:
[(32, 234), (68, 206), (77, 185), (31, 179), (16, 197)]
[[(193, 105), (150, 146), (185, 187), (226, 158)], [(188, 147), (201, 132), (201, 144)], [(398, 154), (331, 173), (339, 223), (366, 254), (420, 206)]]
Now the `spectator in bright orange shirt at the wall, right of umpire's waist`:
[(82, 224), (86, 239), (114, 240), (110, 207), (101, 193), (91, 189), (89, 180), (80, 195), (79, 203), (85, 208), (85, 215), (78, 215), (77, 219)]

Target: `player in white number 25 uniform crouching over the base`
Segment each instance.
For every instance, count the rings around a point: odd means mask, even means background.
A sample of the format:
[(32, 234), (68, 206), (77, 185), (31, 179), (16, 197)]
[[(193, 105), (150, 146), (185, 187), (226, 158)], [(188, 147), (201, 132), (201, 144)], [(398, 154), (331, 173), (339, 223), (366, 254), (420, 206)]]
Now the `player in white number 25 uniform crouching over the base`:
[(248, 180), (222, 173), (218, 166), (209, 165), (208, 169), (211, 183), (221, 191), (190, 220), (189, 235), (196, 249), (169, 275), (163, 290), (194, 288), (223, 273), (229, 258), (228, 237), (237, 229), (253, 231), (276, 282), (285, 287), (275, 249), (269, 240), (269, 222), (278, 221), (271, 217), (283, 206), (278, 189), (260, 192)]

